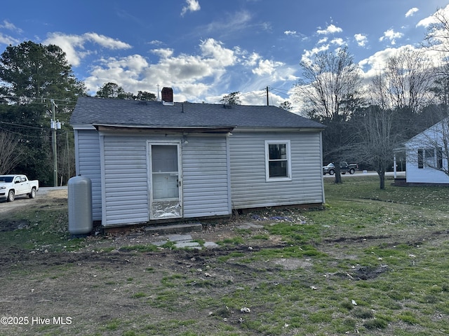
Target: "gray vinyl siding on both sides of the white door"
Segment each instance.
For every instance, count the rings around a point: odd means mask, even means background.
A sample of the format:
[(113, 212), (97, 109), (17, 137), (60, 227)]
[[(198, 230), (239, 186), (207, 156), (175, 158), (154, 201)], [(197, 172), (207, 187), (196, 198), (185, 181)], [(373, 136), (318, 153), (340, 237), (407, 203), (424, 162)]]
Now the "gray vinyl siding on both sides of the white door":
[[(103, 137), (103, 225), (149, 221), (148, 142), (181, 137)], [(181, 146), (184, 218), (231, 213), (227, 140), (188, 137)]]

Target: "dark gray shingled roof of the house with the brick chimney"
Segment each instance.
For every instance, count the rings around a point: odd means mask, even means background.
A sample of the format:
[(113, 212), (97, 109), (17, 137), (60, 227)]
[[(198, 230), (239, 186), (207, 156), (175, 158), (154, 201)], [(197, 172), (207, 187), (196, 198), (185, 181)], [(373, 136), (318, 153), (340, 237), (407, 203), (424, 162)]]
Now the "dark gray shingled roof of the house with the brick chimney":
[(243, 127), (307, 128), (320, 123), (276, 106), (138, 102), (126, 99), (79, 97), (70, 124), (121, 127)]

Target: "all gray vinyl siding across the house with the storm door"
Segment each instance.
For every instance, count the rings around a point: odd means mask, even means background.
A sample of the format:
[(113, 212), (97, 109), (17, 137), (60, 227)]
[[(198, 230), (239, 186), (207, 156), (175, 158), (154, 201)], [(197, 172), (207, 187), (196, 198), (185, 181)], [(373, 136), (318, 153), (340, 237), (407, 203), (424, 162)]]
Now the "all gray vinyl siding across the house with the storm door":
[[(104, 226), (149, 221), (148, 142), (182, 137), (76, 134), (77, 174), (92, 180), (93, 219)], [(180, 146), (183, 217), (324, 202), (320, 139), (319, 132), (189, 135)], [(292, 181), (265, 181), (265, 140), (290, 141)]]

